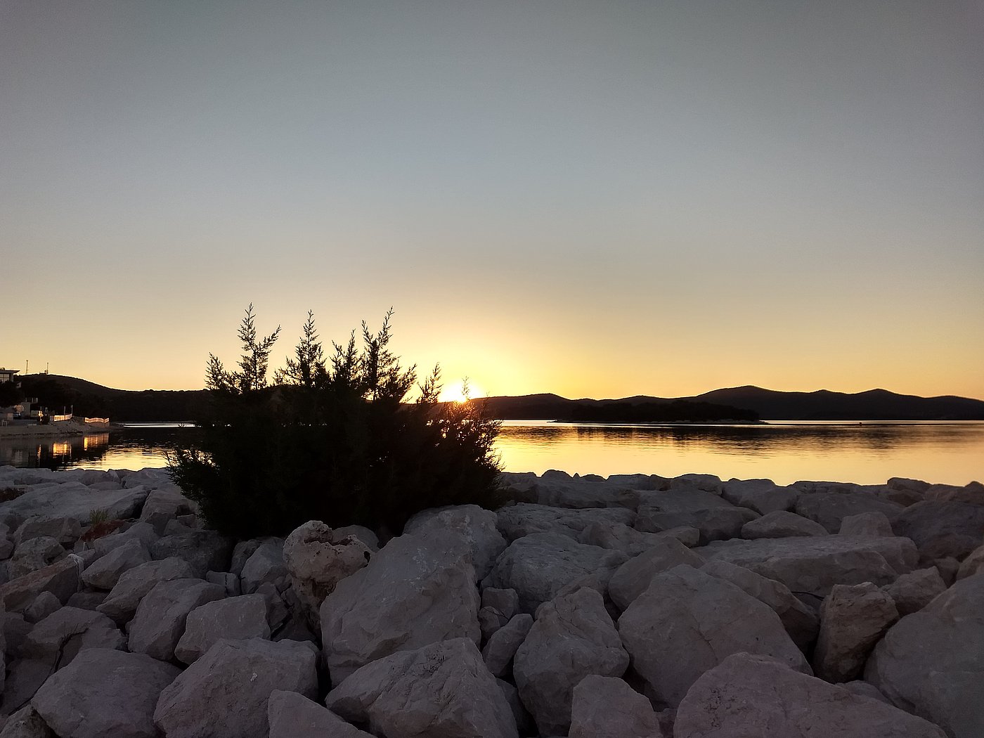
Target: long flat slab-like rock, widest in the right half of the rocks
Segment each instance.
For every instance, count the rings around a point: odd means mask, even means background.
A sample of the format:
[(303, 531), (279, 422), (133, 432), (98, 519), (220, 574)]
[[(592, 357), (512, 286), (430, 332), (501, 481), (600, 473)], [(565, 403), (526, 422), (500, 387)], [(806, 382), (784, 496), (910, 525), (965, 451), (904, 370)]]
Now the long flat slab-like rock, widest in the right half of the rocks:
[(919, 554), (907, 538), (816, 535), (714, 541), (695, 552), (751, 569), (796, 593), (826, 596), (834, 584), (890, 584)]

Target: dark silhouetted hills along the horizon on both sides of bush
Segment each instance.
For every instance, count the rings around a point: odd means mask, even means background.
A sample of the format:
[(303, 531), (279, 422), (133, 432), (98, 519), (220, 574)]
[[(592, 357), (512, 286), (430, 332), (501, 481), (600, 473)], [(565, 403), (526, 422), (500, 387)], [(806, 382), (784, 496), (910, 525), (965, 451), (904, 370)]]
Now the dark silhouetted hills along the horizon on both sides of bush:
[[(205, 390), (114, 390), (84, 379), (31, 374), (19, 378), (24, 393), (50, 407), (119, 422), (181, 421), (199, 416)], [(636, 396), (618, 400), (568, 400), (559, 395), (485, 399), (503, 420), (569, 422), (749, 422), (762, 420), (984, 420), (984, 400), (921, 398), (887, 390), (862, 393), (777, 392), (745, 386), (687, 398)]]

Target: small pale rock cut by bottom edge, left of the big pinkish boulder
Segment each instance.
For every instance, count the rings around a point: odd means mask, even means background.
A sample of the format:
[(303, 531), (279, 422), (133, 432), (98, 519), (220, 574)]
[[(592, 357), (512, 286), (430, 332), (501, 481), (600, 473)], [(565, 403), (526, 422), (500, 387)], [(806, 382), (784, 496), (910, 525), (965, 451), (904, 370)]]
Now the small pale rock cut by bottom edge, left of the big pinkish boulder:
[(574, 688), (570, 738), (662, 738), (659, 718), (621, 679), (589, 675)]

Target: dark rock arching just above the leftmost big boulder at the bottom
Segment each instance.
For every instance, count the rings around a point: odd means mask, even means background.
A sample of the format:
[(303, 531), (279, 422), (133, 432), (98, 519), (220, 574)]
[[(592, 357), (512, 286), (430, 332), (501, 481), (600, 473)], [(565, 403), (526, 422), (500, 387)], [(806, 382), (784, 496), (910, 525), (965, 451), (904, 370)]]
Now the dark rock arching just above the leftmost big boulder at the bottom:
[(25, 658), (50, 660), (58, 668), (67, 666), (88, 648), (126, 647), (126, 637), (116, 625), (92, 610), (62, 607), (37, 623), (21, 646)]

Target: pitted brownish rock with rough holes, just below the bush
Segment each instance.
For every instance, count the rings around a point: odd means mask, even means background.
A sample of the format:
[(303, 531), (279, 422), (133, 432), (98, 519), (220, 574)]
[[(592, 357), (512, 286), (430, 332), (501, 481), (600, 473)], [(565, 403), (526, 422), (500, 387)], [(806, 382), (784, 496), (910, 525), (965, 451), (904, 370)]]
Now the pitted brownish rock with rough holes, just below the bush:
[(362, 539), (352, 534), (339, 537), (321, 521), (308, 521), (287, 536), (283, 560), (309, 624), (318, 627), (325, 597), (338, 582), (368, 564), (371, 555)]

